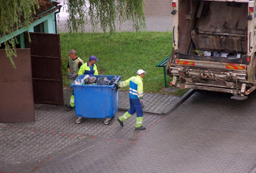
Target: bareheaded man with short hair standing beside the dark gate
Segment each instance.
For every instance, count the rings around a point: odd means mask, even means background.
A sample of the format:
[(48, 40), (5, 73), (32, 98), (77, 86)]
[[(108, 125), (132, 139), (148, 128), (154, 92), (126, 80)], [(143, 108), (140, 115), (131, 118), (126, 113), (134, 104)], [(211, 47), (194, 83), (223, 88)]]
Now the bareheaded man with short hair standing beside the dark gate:
[[(76, 51), (71, 49), (68, 52), (69, 58), (68, 58), (68, 78), (70, 84), (76, 79), (78, 76), (78, 70), (80, 67), (84, 64), (84, 61), (76, 56)], [(75, 97), (74, 97), (74, 90), (70, 97), (70, 103), (65, 105), (68, 108), (74, 108), (75, 106)]]

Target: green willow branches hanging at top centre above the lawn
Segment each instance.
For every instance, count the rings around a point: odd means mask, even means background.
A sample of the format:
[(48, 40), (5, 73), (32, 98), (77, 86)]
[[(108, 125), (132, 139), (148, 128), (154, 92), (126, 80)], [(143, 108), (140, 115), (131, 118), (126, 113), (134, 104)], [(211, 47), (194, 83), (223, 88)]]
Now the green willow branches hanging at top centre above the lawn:
[[(87, 3), (86, 3), (87, 2)], [(116, 23), (132, 21), (136, 32), (145, 28), (144, 0), (65, 0), (69, 14), (67, 27), (70, 32), (84, 32), (84, 25), (90, 20), (93, 30), (100, 25), (106, 32), (115, 32)]]

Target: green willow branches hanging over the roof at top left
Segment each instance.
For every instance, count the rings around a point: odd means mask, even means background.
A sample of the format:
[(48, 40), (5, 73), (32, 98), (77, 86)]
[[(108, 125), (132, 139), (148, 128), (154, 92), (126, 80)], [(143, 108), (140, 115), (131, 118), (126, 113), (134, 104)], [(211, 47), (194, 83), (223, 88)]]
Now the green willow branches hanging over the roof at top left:
[(31, 15), (35, 8), (38, 8), (37, 0), (0, 0), (0, 33), (5, 38), (6, 55), (10, 59), (14, 68), (15, 64), (12, 56), (16, 56), (15, 44), (16, 38), (7, 40), (6, 35), (12, 34), (14, 28), (19, 26), (28, 26), (30, 24)]

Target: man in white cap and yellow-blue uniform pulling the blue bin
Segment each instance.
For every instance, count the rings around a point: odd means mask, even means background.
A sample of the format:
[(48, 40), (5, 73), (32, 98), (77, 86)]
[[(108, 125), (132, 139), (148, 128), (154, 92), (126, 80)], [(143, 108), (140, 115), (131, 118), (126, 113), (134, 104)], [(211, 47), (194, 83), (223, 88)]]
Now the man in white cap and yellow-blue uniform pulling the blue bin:
[(136, 130), (145, 130), (146, 127), (142, 126), (143, 121), (143, 110), (145, 107), (144, 98), (143, 98), (143, 82), (142, 78), (147, 72), (140, 69), (137, 71), (137, 76), (132, 76), (130, 79), (120, 82), (114, 82), (114, 84), (118, 84), (120, 87), (130, 86), (129, 89), (129, 98), (130, 98), (130, 110), (128, 110), (124, 115), (118, 117), (117, 120), (120, 125), (124, 126), (124, 121), (129, 119), (135, 112), (137, 113), (136, 117)]

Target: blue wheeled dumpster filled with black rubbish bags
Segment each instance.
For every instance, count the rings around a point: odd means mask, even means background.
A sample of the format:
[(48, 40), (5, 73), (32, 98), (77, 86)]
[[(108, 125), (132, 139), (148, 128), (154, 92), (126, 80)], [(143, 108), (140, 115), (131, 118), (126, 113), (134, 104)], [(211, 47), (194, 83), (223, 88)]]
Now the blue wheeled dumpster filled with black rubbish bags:
[[(85, 75), (80, 75), (75, 81), (80, 82)], [(89, 75), (90, 77), (108, 77), (112, 80), (115, 76)], [(118, 82), (121, 76), (117, 76)], [(108, 125), (110, 119), (118, 110), (119, 89), (115, 85), (78, 85), (75, 81), (71, 84), (74, 89), (76, 123), (81, 123), (82, 118), (100, 118)]]

